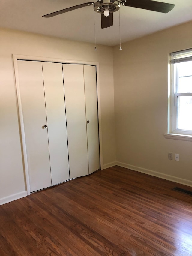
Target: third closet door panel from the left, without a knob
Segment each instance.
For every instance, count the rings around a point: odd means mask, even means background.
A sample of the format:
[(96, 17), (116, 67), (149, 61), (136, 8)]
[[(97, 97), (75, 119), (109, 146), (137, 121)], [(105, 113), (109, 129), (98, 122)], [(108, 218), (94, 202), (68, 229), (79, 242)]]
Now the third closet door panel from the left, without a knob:
[(83, 65), (63, 64), (70, 179), (88, 175)]

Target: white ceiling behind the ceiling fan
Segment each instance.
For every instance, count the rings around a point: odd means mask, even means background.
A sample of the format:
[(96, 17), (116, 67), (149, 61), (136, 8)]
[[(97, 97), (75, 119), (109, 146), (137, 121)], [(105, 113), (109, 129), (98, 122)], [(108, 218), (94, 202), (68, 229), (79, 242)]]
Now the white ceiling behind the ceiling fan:
[[(175, 4), (175, 7), (169, 13), (163, 14), (120, 6), (122, 42), (192, 20), (192, 0), (156, 1)], [(93, 5), (51, 18), (42, 17), (42, 15), (86, 2), (91, 1), (1, 0), (0, 26), (94, 43)], [(113, 26), (106, 29), (101, 29), (101, 15), (95, 12), (95, 29), (98, 44), (109, 46), (119, 44), (119, 12), (113, 14)]]

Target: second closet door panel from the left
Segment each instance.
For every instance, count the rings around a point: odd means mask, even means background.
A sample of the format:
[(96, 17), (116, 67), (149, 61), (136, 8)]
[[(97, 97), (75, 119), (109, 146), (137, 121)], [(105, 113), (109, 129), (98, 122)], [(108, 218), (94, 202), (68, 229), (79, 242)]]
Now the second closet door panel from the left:
[(67, 127), (61, 63), (43, 62), (52, 185), (69, 179)]

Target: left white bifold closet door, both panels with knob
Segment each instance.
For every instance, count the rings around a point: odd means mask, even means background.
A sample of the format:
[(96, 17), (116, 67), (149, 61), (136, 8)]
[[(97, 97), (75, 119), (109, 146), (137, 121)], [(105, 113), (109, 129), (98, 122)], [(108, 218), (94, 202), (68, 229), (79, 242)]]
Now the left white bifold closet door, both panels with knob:
[(32, 192), (69, 179), (62, 64), (18, 60), (18, 71)]

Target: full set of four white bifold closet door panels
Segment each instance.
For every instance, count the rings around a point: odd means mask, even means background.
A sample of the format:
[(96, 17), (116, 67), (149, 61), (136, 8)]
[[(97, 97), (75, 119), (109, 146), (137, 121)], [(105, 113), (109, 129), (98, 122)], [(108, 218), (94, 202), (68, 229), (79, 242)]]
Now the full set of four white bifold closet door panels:
[(17, 64), (30, 191), (98, 170), (96, 67)]

